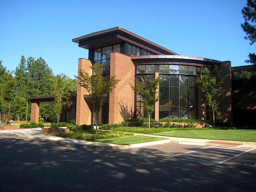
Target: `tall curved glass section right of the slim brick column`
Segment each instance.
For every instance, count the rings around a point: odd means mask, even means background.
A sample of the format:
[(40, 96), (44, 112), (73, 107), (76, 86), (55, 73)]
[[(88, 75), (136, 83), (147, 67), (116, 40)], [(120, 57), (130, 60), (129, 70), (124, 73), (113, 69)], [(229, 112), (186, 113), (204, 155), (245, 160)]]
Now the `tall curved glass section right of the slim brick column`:
[(197, 71), (194, 66), (159, 66), (159, 118), (197, 118)]

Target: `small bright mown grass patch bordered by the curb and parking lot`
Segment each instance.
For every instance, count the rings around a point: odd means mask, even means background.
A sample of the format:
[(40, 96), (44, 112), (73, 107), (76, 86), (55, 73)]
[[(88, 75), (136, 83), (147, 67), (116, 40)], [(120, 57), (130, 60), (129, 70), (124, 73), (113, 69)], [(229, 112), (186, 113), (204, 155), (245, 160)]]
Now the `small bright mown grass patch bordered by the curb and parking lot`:
[(94, 141), (102, 142), (102, 143), (117, 144), (117, 145), (130, 145), (130, 144), (146, 143), (146, 142), (159, 141), (159, 140), (165, 140), (165, 139), (166, 138), (135, 135), (135, 136), (99, 139)]

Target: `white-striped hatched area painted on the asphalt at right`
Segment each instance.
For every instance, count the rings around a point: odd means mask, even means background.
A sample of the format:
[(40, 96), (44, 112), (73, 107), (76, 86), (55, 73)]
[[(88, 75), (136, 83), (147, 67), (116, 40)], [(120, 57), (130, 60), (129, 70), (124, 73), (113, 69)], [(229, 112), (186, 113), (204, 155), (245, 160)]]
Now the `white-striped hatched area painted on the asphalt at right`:
[(214, 145), (166, 158), (221, 164), (254, 149), (256, 149), (256, 147), (252, 148)]

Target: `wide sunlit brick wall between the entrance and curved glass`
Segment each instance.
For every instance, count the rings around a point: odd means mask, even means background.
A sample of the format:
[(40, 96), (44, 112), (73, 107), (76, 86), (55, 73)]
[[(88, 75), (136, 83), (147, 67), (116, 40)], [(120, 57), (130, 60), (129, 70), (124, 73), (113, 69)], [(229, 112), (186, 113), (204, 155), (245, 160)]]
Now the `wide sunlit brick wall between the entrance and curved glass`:
[(109, 124), (133, 118), (134, 92), (130, 84), (134, 84), (135, 67), (130, 56), (112, 52), (110, 56), (110, 76), (121, 79), (109, 96)]

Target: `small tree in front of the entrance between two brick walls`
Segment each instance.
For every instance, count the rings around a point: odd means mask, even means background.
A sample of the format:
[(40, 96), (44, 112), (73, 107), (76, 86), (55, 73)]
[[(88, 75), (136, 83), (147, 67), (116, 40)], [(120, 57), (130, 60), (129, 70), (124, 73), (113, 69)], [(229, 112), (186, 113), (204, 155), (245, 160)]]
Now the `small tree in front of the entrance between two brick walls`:
[(116, 84), (120, 81), (115, 79), (115, 76), (102, 76), (100, 71), (104, 67), (104, 65), (99, 65), (97, 68), (92, 68), (94, 71), (93, 75), (90, 75), (88, 72), (84, 70), (78, 71), (78, 83), (80, 86), (84, 87), (90, 98), (90, 103), (92, 105), (92, 110), (96, 114), (96, 134), (98, 129), (98, 116), (100, 109), (102, 108), (104, 99), (109, 92), (116, 87)]

